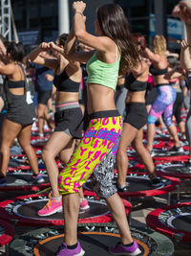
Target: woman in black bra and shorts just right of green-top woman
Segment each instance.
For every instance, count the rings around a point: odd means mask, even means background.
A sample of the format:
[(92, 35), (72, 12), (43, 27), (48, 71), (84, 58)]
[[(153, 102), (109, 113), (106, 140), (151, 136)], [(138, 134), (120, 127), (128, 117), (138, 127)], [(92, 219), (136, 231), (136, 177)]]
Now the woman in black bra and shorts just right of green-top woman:
[(128, 170), (127, 149), (132, 147), (138, 152), (145, 164), (151, 184), (160, 184), (160, 179), (155, 173), (155, 166), (149, 151), (142, 143), (143, 127), (146, 124), (148, 113), (145, 105), (145, 93), (149, 77), (148, 63), (143, 59), (143, 51), (146, 47), (145, 38), (141, 34), (134, 34), (134, 40), (138, 45), (140, 61), (136, 69), (131, 69), (125, 79), (128, 89), (126, 97), (126, 115), (123, 120), (122, 135), (117, 148), (117, 190), (127, 192), (126, 175)]

